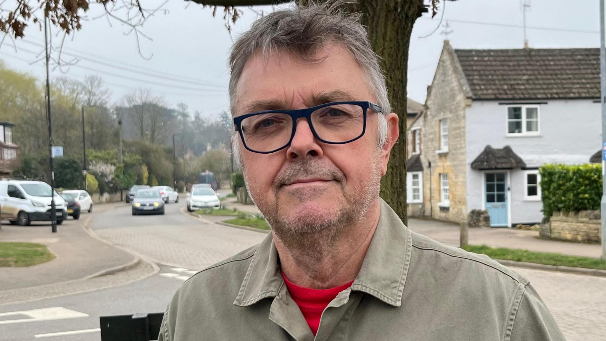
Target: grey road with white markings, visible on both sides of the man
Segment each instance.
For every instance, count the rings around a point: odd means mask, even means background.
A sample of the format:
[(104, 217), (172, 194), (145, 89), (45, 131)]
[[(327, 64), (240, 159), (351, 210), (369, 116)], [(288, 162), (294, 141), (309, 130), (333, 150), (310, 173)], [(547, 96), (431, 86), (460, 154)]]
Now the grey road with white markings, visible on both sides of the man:
[[(96, 234), (155, 262), (159, 272), (113, 288), (0, 305), (0, 341), (98, 341), (99, 316), (164, 311), (173, 292), (191, 274), (265, 237), (258, 232), (203, 223), (184, 214), (184, 208), (185, 200), (181, 200), (168, 204), (165, 215), (133, 217), (130, 206), (124, 204), (95, 217), (92, 229)], [(530, 279), (568, 341), (606, 340), (606, 278), (514, 270)], [(27, 314), (38, 314), (38, 319), (15, 322), (27, 319)], [(52, 314), (58, 314), (58, 319), (44, 320)], [(62, 332), (79, 334), (52, 334)]]

